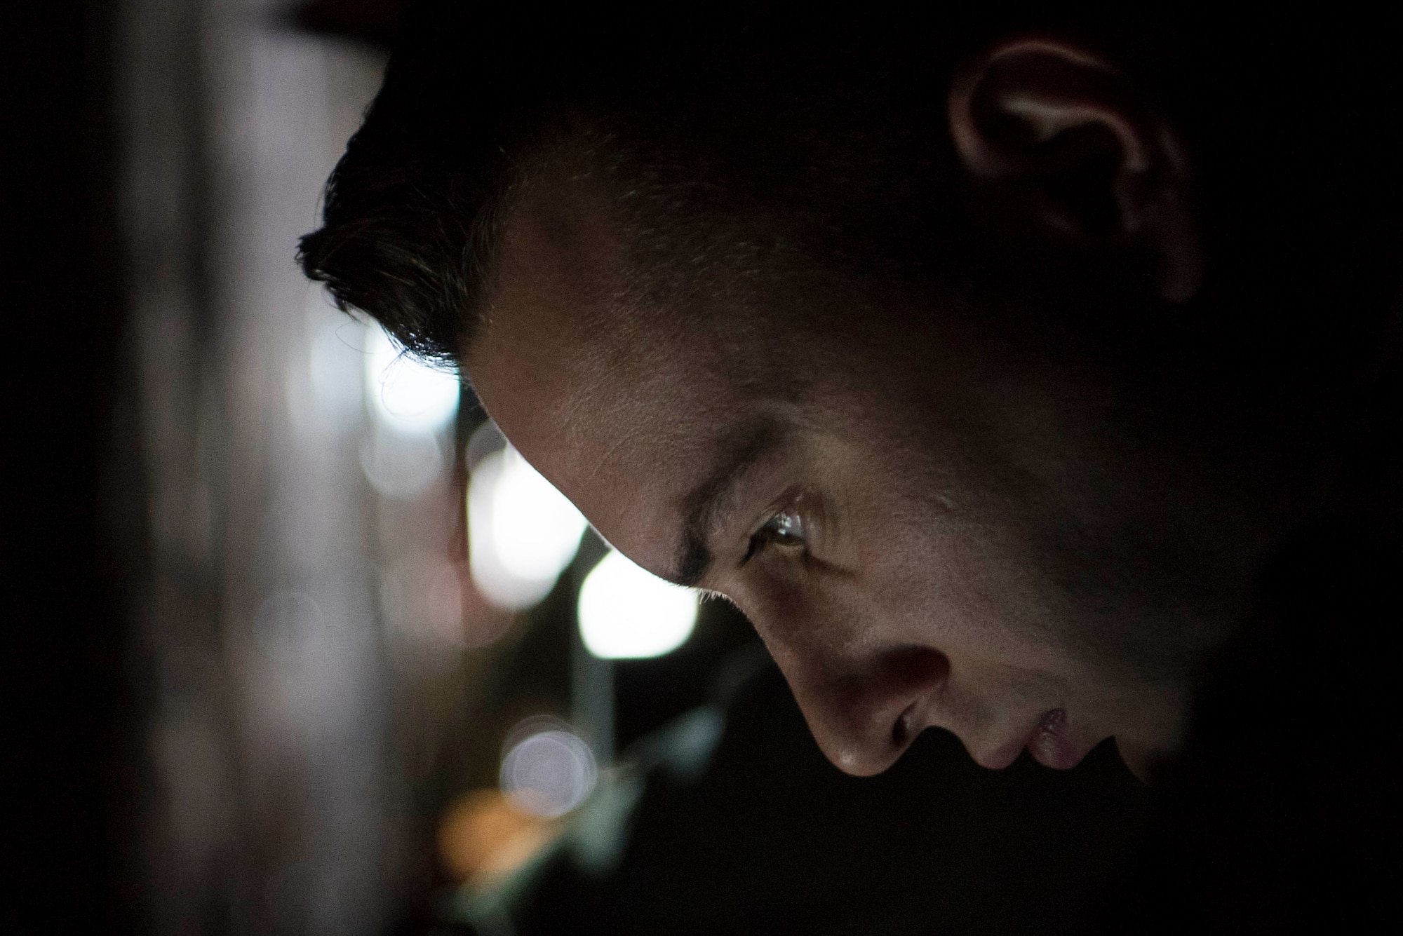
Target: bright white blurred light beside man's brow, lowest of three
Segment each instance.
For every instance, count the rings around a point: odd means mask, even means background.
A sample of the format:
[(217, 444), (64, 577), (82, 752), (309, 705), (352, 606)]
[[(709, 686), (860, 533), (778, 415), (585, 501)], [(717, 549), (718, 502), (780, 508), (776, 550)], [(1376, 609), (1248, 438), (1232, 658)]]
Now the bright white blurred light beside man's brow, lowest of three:
[(693, 589), (665, 581), (610, 549), (579, 587), (579, 636), (605, 660), (658, 657), (692, 635), (697, 601)]

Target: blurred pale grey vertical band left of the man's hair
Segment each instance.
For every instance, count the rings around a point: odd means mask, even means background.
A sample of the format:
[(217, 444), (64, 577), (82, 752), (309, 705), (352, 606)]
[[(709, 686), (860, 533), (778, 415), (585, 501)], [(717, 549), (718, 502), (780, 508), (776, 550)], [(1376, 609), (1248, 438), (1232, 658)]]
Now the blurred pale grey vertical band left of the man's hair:
[(293, 263), (380, 62), (279, 13), (116, 14), (152, 933), (355, 936), (394, 914), (363, 411), (318, 402), (313, 342), (345, 319)]

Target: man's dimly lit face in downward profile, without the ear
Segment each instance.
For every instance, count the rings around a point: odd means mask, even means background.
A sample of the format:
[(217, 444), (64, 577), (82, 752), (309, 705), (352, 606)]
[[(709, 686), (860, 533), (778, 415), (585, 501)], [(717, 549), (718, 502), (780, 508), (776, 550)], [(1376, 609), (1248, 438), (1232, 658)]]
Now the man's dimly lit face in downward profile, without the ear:
[(835, 765), (880, 772), (927, 726), (991, 768), (1172, 743), (1179, 688), (1127, 647), (1173, 603), (1122, 574), (1162, 518), (1107, 481), (1136, 455), (1093, 388), (857, 291), (807, 319), (739, 290), (624, 308), (602, 205), (560, 184), (515, 210), (474, 385), (610, 544), (746, 614)]

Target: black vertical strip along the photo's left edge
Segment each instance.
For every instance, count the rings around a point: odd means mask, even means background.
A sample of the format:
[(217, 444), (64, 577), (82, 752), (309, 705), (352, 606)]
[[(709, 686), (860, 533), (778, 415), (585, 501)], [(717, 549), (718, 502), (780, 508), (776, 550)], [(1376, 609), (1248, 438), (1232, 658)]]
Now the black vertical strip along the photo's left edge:
[(122, 617), (102, 465), (122, 325), (111, 7), (0, 8), (6, 349), (4, 888), (11, 932), (135, 932)]

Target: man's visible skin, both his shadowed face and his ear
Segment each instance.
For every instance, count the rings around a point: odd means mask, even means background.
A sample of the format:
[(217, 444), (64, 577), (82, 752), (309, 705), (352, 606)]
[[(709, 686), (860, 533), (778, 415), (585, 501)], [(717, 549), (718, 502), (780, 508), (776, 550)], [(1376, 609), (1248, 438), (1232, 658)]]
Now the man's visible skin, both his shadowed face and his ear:
[[(1186, 160), (1108, 64), (1017, 39), (955, 76), (948, 113), (991, 226), (1194, 293)], [(1110, 230), (1037, 182), (1086, 157), (1069, 130), (1118, 153)], [(610, 544), (749, 617), (835, 765), (884, 771), (929, 726), (991, 768), (1024, 747), (1069, 768), (1115, 737), (1142, 772), (1173, 750), (1187, 674), (1236, 611), (1202, 593), (1246, 565), (1195, 546), (1232, 539), (1204, 465), (968, 303), (720, 273), (699, 315), (630, 290), (622, 231), (588, 174), (525, 184), (467, 370)]]

